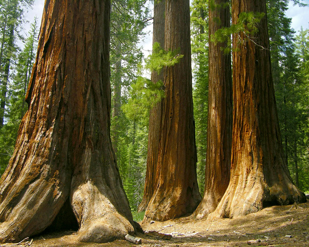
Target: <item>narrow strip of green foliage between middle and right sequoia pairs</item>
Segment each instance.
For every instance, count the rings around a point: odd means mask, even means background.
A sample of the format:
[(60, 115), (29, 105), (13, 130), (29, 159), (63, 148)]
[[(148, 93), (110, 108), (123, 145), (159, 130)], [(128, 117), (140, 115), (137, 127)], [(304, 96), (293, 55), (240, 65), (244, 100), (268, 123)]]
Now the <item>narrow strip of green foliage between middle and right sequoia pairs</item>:
[(208, 116), (208, 4), (195, 0), (191, 6), (191, 51), (193, 66), (193, 107), (197, 145), (197, 182), (205, 187)]

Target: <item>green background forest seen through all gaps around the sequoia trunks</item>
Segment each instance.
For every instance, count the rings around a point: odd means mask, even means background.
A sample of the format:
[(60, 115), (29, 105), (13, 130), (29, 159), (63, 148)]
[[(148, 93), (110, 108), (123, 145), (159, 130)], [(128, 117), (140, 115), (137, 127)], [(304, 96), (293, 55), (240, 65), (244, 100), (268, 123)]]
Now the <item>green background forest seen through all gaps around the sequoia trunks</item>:
[[(0, 0), (0, 174), (14, 151), (24, 101), (36, 57), (39, 19), (24, 35), (24, 15), (33, 0)], [(295, 32), (286, 16), (290, 1), (267, 1), (273, 82), (281, 136), (290, 174), (309, 190), (309, 29)], [(298, 0), (294, 4), (306, 7)], [(117, 165), (132, 211), (142, 200), (146, 173), (150, 99), (145, 97), (144, 53), (140, 45), (152, 23), (153, 5), (144, 0), (112, 0), (111, 137)], [(307, 8), (307, 7), (306, 7)], [(148, 28), (149, 29), (149, 28)], [(205, 183), (208, 115), (208, 1), (191, 4), (193, 102), (197, 144), (197, 179)], [(308, 192), (307, 192), (308, 193)]]

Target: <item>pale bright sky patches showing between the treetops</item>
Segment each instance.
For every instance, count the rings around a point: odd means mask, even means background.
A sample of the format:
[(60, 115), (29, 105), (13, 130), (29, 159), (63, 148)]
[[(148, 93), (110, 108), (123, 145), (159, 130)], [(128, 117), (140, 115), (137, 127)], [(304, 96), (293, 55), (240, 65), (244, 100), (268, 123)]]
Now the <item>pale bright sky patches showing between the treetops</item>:
[[(309, 4), (309, 0), (304, 0), (303, 3)], [(44, 0), (35, 0), (33, 9), (29, 10), (25, 15), (26, 19), (29, 21), (24, 26), (24, 32), (28, 33), (30, 30), (30, 23), (33, 22), (34, 16), (38, 17), (38, 26), (40, 27), (42, 13), (44, 8)], [(309, 28), (309, 6), (307, 7), (299, 7), (298, 5), (293, 6), (293, 3), (290, 1), (289, 9), (286, 11), (286, 16), (292, 18), (291, 27), (296, 31), (296, 35), (300, 30), (301, 26), (304, 29)], [(151, 31), (152, 26), (148, 26), (148, 30)], [(147, 56), (152, 49), (152, 34), (149, 33), (146, 37), (144, 37), (144, 42), (140, 44), (143, 47), (144, 54)]]

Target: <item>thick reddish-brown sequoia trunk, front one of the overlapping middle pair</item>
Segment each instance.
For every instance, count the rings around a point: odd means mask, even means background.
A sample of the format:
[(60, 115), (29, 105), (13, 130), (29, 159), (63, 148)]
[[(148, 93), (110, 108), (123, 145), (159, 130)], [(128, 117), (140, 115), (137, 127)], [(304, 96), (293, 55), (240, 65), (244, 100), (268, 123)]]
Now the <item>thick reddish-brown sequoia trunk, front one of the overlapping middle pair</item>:
[(189, 14), (188, 0), (166, 0), (164, 48), (179, 49), (184, 57), (164, 71), (166, 98), (162, 100), (158, 184), (144, 222), (193, 212), (201, 200), (196, 174)]

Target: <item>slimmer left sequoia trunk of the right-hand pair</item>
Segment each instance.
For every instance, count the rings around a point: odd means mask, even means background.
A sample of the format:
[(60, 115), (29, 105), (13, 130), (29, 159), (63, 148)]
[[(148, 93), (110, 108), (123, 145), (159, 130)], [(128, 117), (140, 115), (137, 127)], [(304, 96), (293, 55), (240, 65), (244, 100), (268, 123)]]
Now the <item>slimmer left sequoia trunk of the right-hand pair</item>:
[[(226, 0), (209, 6), (209, 40), (219, 28), (230, 26), (230, 7)], [(218, 21), (218, 18), (220, 21)], [(207, 217), (220, 202), (230, 182), (232, 142), (232, 72), (231, 54), (226, 43), (209, 43), (209, 92), (207, 152), (204, 196), (192, 215)]]

